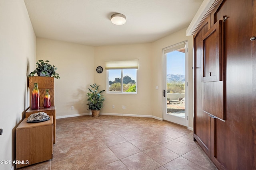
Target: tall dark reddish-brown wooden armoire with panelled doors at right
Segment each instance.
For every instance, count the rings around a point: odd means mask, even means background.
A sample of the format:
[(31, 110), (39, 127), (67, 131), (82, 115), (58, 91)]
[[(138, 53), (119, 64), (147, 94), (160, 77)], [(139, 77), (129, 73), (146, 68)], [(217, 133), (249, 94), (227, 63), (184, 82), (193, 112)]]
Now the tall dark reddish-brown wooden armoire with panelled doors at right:
[(256, 0), (218, 0), (194, 35), (194, 140), (221, 170), (256, 170)]

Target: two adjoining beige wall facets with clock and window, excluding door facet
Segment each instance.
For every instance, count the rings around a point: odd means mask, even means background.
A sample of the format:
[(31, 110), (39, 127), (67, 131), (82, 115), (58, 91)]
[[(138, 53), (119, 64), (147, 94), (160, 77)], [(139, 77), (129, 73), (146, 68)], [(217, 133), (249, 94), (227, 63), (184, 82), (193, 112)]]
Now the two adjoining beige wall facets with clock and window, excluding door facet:
[[(106, 90), (106, 70), (99, 74), (97, 66), (105, 68), (105, 61), (139, 59), (138, 94), (106, 94), (101, 113), (152, 115), (152, 44), (90, 47), (51, 39), (36, 38), (36, 60), (49, 60), (55, 65), (60, 79), (55, 81), (56, 116), (69, 117), (88, 114), (86, 93), (90, 84)], [(142, 101), (142, 103), (141, 103)], [(112, 105), (115, 108), (112, 109)], [(126, 109), (122, 109), (125, 105)], [(71, 110), (74, 106), (74, 110)]]

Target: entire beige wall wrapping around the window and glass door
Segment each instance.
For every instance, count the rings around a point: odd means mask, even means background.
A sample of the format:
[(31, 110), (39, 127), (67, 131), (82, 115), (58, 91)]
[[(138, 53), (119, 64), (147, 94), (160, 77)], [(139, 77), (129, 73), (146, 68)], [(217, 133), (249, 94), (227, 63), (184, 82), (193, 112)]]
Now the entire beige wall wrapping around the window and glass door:
[[(86, 93), (90, 84), (106, 90), (105, 61), (139, 59), (138, 94), (107, 94), (101, 113), (148, 115), (163, 118), (162, 113), (162, 49), (188, 40), (189, 43), (189, 127), (193, 127), (192, 111), (192, 36), (186, 28), (154, 43), (90, 47), (44, 38), (36, 39), (36, 59), (49, 60), (57, 66), (61, 78), (55, 79), (55, 106), (57, 117), (89, 113)], [(103, 67), (97, 73), (97, 66)], [(67, 69), (68, 68), (68, 69)], [(71, 69), (70, 69), (71, 68)], [(159, 87), (156, 90), (156, 86)], [(112, 108), (115, 105), (115, 108)], [(126, 109), (122, 109), (122, 106)], [(74, 106), (74, 110), (71, 110)]]

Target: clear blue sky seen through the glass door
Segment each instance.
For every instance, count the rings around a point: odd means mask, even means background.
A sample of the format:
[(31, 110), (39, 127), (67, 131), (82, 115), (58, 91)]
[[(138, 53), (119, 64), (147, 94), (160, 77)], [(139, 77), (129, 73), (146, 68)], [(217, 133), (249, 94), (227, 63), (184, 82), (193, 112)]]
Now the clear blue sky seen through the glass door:
[(167, 53), (167, 74), (185, 75), (185, 53), (172, 51)]

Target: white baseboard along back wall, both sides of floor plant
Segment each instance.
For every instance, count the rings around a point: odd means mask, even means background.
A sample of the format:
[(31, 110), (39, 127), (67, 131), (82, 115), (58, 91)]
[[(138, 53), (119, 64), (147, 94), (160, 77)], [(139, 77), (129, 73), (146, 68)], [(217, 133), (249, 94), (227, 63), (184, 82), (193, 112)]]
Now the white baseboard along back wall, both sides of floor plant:
[[(84, 116), (91, 115), (92, 113), (82, 113), (82, 114), (74, 114), (74, 115), (65, 115), (65, 116), (56, 116), (56, 119), (62, 119), (67, 117), (76, 117), (76, 116)], [(154, 119), (158, 119), (162, 121), (163, 119), (160, 117), (152, 116), (152, 115), (135, 115), (135, 114), (122, 114), (122, 113), (100, 113), (100, 115), (112, 115), (112, 116), (128, 116), (128, 117), (150, 117)]]

